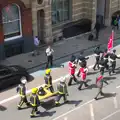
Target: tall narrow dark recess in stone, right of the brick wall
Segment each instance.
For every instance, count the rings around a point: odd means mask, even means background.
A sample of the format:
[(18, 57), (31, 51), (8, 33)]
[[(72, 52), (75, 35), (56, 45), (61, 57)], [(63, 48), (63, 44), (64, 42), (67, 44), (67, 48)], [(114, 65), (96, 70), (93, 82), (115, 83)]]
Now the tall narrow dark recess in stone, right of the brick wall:
[(38, 21), (38, 38), (41, 43), (44, 43), (44, 22), (45, 22), (45, 13), (44, 10), (39, 10), (37, 12), (37, 21)]

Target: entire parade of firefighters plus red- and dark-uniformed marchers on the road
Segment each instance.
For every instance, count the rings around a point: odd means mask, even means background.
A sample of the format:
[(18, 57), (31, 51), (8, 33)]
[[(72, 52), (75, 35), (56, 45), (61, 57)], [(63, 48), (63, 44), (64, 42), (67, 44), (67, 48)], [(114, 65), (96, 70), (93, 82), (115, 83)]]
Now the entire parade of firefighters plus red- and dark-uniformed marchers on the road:
[[(117, 58), (120, 59), (120, 57), (116, 55), (116, 50), (113, 50), (112, 52), (108, 52), (107, 50), (101, 51), (99, 46), (95, 48), (94, 53), (95, 53), (96, 62), (93, 67), (93, 70), (96, 70), (96, 67), (97, 67), (100, 71), (100, 74), (96, 78), (96, 86), (99, 88), (99, 92), (94, 99), (97, 100), (99, 94), (102, 96), (104, 95), (104, 93), (102, 92), (103, 83), (105, 82), (106, 84), (108, 84), (104, 80), (105, 69), (108, 70), (109, 75), (111, 75), (111, 73), (115, 73), (116, 59)], [(60, 104), (59, 101), (61, 97), (63, 97), (65, 103), (68, 102), (67, 96), (69, 94), (68, 94), (67, 86), (71, 86), (73, 80), (74, 82), (79, 84), (78, 90), (81, 90), (83, 85), (85, 87), (89, 86), (86, 80), (87, 73), (88, 73), (88, 67), (87, 67), (88, 59), (89, 57), (85, 57), (83, 55), (83, 52), (80, 53), (78, 58), (74, 55), (71, 56), (71, 59), (68, 63), (69, 75), (70, 75), (68, 85), (66, 83), (66, 78), (62, 77), (60, 79), (60, 82), (57, 84), (58, 94), (55, 98), (55, 105)], [(108, 64), (109, 62), (110, 62), (110, 65)], [(78, 66), (79, 66), (79, 71), (76, 77), (76, 68)], [(45, 71), (44, 81), (45, 81), (46, 86), (49, 88), (50, 92), (54, 93), (51, 69), (49, 68), (47, 68)], [(21, 84), (17, 87), (17, 92), (20, 94), (20, 97), (21, 97), (21, 100), (18, 104), (18, 109), (21, 109), (23, 103), (25, 103), (28, 107), (32, 107), (30, 116), (34, 117), (36, 114), (40, 114), (40, 111), (38, 111), (38, 106), (41, 104), (41, 101), (39, 100), (38, 93), (41, 93), (44, 95), (44, 90), (42, 87), (40, 87), (39, 89), (33, 88), (31, 91), (32, 94), (30, 96), (30, 102), (28, 102), (27, 94), (26, 94), (26, 86), (25, 86), (26, 83), (27, 83), (26, 80), (22, 80)]]

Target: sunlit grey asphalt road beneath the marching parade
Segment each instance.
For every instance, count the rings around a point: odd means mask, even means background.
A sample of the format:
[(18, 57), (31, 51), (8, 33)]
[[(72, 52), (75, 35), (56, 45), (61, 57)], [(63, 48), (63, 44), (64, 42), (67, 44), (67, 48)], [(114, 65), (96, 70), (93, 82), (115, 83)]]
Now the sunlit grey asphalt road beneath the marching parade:
[[(120, 48), (117, 49), (120, 51)], [(120, 53), (120, 52), (119, 52)], [(92, 65), (94, 58), (92, 57), (88, 63)], [(63, 70), (64, 69), (64, 70)], [(56, 72), (57, 71), (57, 72)], [(104, 85), (105, 97), (95, 101), (93, 98), (98, 92), (95, 86), (95, 79), (98, 75), (97, 71), (94, 72), (92, 69), (88, 75), (89, 87), (79, 91), (78, 85), (73, 84), (68, 87), (70, 101), (67, 104), (62, 104), (59, 107), (53, 107), (51, 109), (45, 109), (39, 107), (41, 115), (34, 118), (35, 120), (119, 120), (120, 118), (120, 60), (117, 61), (116, 74), (111, 77), (108, 73), (105, 73), (106, 80), (109, 85)], [(58, 68), (52, 72), (54, 79), (67, 74), (67, 67)], [(28, 83), (28, 89), (31, 87), (38, 86), (41, 77), (31, 83)], [(43, 81), (42, 81), (43, 82)], [(42, 82), (40, 84), (42, 84)], [(56, 87), (56, 83), (54, 84)], [(116, 93), (116, 94), (114, 94)], [(4, 99), (15, 94), (15, 88), (1, 93), (0, 102)], [(31, 109), (26, 108), (23, 110), (17, 110), (17, 104), (19, 98), (13, 99), (8, 102), (4, 102), (0, 106), (0, 118), (2, 120), (30, 120)], [(61, 103), (63, 101), (61, 100)]]

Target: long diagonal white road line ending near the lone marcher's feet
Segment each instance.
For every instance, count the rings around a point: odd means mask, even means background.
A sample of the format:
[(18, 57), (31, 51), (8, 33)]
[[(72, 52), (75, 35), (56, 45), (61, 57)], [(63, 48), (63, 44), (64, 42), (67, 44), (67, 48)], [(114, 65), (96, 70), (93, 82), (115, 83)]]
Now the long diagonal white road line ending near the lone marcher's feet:
[(54, 118), (53, 120), (57, 120), (57, 119), (59, 119), (59, 118), (61, 118), (61, 117), (64, 117), (65, 115), (70, 114), (71, 112), (74, 112), (74, 111), (80, 109), (81, 107), (83, 107), (83, 106), (85, 106), (85, 105), (87, 105), (87, 104), (89, 104), (89, 103), (91, 103), (91, 102), (93, 102), (93, 101), (94, 101), (94, 99), (92, 99), (92, 100), (90, 100), (90, 101), (88, 101), (88, 102), (80, 105), (79, 107), (76, 107), (76, 108), (74, 108), (74, 109), (72, 109), (72, 110), (70, 110), (70, 111), (68, 111), (68, 112), (66, 112), (66, 113), (64, 113), (64, 114), (56, 117), (56, 118)]

